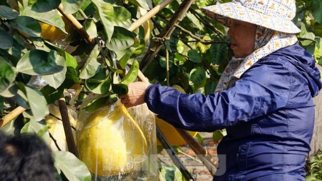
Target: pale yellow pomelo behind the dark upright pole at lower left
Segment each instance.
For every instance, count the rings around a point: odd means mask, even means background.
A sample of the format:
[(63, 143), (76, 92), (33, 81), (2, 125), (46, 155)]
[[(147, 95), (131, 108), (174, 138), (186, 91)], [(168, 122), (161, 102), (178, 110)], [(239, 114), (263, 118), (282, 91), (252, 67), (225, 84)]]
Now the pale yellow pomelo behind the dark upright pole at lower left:
[[(62, 125), (59, 107), (54, 104), (49, 104), (49, 112), (50, 112), (50, 114), (53, 115), (53, 116), (48, 115), (45, 117), (46, 124), (50, 125), (49, 133), (56, 140), (56, 143), (58, 144), (58, 146), (60, 147), (60, 149), (62, 151), (68, 151), (67, 141), (66, 141), (66, 137), (65, 137), (65, 131), (64, 131), (64, 127)], [(76, 127), (77, 121), (72, 116), (72, 110), (70, 108), (68, 108), (68, 118), (69, 118), (71, 126)], [(72, 129), (72, 133), (74, 136), (74, 140), (76, 141), (76, 132), (74, 129)], [(51, 150), (58, 151), (58, 148), (52, 139), (49, 141), (49, 145), (50, 145)]]

